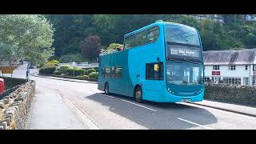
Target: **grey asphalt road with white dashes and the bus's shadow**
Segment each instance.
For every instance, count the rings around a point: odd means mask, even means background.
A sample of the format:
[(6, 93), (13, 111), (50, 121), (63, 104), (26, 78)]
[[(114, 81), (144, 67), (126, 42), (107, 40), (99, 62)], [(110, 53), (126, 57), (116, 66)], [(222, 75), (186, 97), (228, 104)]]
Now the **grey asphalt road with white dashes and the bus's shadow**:
[(139, 104), (105, 95), (93, 82), (67, 82), (31, 76), (36, 86), (59, 93), (89, 116), (98, 129), (256, 129), (256, 118), (189, 103)]

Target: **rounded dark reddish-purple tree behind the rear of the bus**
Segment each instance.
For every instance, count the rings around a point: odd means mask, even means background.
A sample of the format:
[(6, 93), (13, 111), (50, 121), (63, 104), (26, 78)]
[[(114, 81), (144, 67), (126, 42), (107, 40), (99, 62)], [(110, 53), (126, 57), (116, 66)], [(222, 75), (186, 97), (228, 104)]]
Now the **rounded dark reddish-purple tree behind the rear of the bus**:
[(81, 50), (82, 55), (90, 61), (98, 58), (99, 51), (101, 49), (101, 40), (97, 35), (90, 35), (82, 42)]

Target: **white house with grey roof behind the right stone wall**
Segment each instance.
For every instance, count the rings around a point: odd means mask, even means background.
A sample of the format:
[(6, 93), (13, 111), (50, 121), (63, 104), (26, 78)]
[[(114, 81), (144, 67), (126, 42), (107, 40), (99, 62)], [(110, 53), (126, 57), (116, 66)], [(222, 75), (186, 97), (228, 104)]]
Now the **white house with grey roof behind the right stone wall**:
[(204, 52), (205, 81), (256, 86), (256, 49)]

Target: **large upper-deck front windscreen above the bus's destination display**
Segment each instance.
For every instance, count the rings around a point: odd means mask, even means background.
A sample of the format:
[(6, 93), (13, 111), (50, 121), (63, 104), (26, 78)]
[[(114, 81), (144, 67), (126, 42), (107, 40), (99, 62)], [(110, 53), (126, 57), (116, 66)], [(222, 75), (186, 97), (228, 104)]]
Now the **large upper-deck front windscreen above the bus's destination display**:
[(198, 31), (188, 26), (166, 24), (166, 41), (200, 46)]

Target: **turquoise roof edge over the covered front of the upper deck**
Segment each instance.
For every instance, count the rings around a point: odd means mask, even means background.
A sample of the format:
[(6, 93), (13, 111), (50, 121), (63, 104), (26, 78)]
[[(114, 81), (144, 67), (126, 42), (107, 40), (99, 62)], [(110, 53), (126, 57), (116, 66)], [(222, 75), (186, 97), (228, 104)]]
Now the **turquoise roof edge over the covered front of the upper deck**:
[[(140, 32), (140, 31), (142, 31), (142, 30), (146, 30), (146, 29), (149, 28), (150, 26), (163, 25), (163, 24), (171, 24), (171, 25), (177, 25), (177, 26), (186, 26), (186, 25), (183, 25), (183, 24), (181, 24), (181, 23), (163, 22), (162, 20), (158, 20), (157, 22), (154, 22), (154, 23), (152, 23), (152, 24), (150, 24), (150, 25), (148, 25), (148, 26), (144, 26), (144, 27), (142, 27), (142, 28), (140, 28), (140, 29), (138, 29), (138, 30), (134, 30), (134, 31), (132, 31), (132, 32), (130, 32), (130, 33), (128, 33), (128, 34), (125, 34), (124, 37), (126, 38), (126, 37), (130, 36), (131, 34), (136, 34), (136, 33)], [(186, 27), (194, 28), (194, 27), (191, 27), (191, 26), (186, 26)]]

